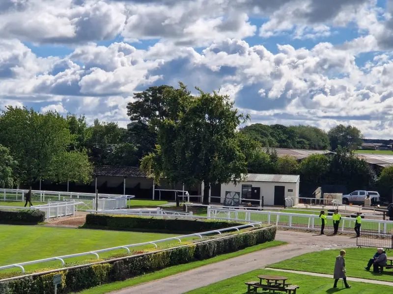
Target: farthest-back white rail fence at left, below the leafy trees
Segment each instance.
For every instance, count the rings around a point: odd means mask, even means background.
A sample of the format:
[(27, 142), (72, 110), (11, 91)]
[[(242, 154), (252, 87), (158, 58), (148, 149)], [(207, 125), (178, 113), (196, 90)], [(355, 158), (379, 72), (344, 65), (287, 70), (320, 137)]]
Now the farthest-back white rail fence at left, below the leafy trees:
[[(0, 199), (3, 201), (25, 201), (26, 193), (28, 193), (28, 190), (0, 189)], [(98, 194), (98, 207), (101, 209), (126, 208), (127, 200), (134, 197), (135, 197), (134, 195)], [(60, 192), (60, 191), (43, 191), (43, 190), (31, 191), (31, 201), (33, 202), (33, 204), (34, 202), (43, 203), (43, 202), (49, 202), (50, 200), (57, 200), (57, 201), (79, 200), (80, 204), (78, 204), (77, 209), (79, 210), (95, 209), (96, 194)]]

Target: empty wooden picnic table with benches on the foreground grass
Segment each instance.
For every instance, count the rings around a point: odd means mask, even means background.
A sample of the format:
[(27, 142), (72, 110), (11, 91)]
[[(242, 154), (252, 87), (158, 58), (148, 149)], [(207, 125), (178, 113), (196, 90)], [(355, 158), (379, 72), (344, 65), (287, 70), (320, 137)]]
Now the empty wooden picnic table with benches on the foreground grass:
[[(273, 291), (273, 293), (285, 292), (288, 294), (296, 294), (296, 290), (300, 288), (298, 285), (291, 285), (285, 281), (288, 279), (282, 276), (258, 275), (259, 282), (250, 281), (245, 283), (248, 287), (247, 293), (257, 293), (258, 288)], [(262, 280), (266, 280), (266, 284), (262, 284)]]

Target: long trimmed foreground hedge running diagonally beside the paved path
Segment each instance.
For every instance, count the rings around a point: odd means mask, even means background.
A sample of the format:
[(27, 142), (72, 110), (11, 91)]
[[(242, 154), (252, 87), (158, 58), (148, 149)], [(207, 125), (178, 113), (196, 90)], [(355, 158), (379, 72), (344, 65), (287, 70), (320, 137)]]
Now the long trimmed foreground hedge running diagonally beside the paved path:
[(275, 236), (276, 227), (272, 226), (191, 245), (169, 248), (159, 252), (125, 257), (114, 262), (78, 267), (50, 274), (34, 274), (0, 283), (0, 293), (53, 294), (52, 278), (54, 274), (59, 273), (62, 274), (62, 283), (57, 288), (57, 293), (78, 292), (104, 283), (122, 281), (170, 266), (208, 259), (219, 254), (273, 241)]

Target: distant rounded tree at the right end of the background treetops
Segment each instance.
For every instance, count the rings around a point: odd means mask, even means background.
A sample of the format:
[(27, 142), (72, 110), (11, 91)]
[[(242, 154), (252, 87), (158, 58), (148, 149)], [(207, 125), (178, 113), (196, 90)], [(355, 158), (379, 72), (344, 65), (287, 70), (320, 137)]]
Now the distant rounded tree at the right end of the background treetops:
[(338, 146), (355, 150), (362, 145), (362, 132), (356, 126), (339, 124), (328, 135), (332, 150), (336, 150)]

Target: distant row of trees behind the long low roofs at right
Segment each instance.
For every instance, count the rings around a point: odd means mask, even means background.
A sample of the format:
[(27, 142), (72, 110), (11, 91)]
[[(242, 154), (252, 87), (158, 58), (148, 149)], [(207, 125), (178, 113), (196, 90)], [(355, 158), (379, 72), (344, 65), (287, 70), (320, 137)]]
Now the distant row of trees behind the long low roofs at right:
[(362, 133), (354, 126), (339, 124), (329, 132), (309, 125), (285, 126), (254, 123), (241, 130), (263, 147), (336, 150), (338, 146), (356, 149), (362, 144)]

